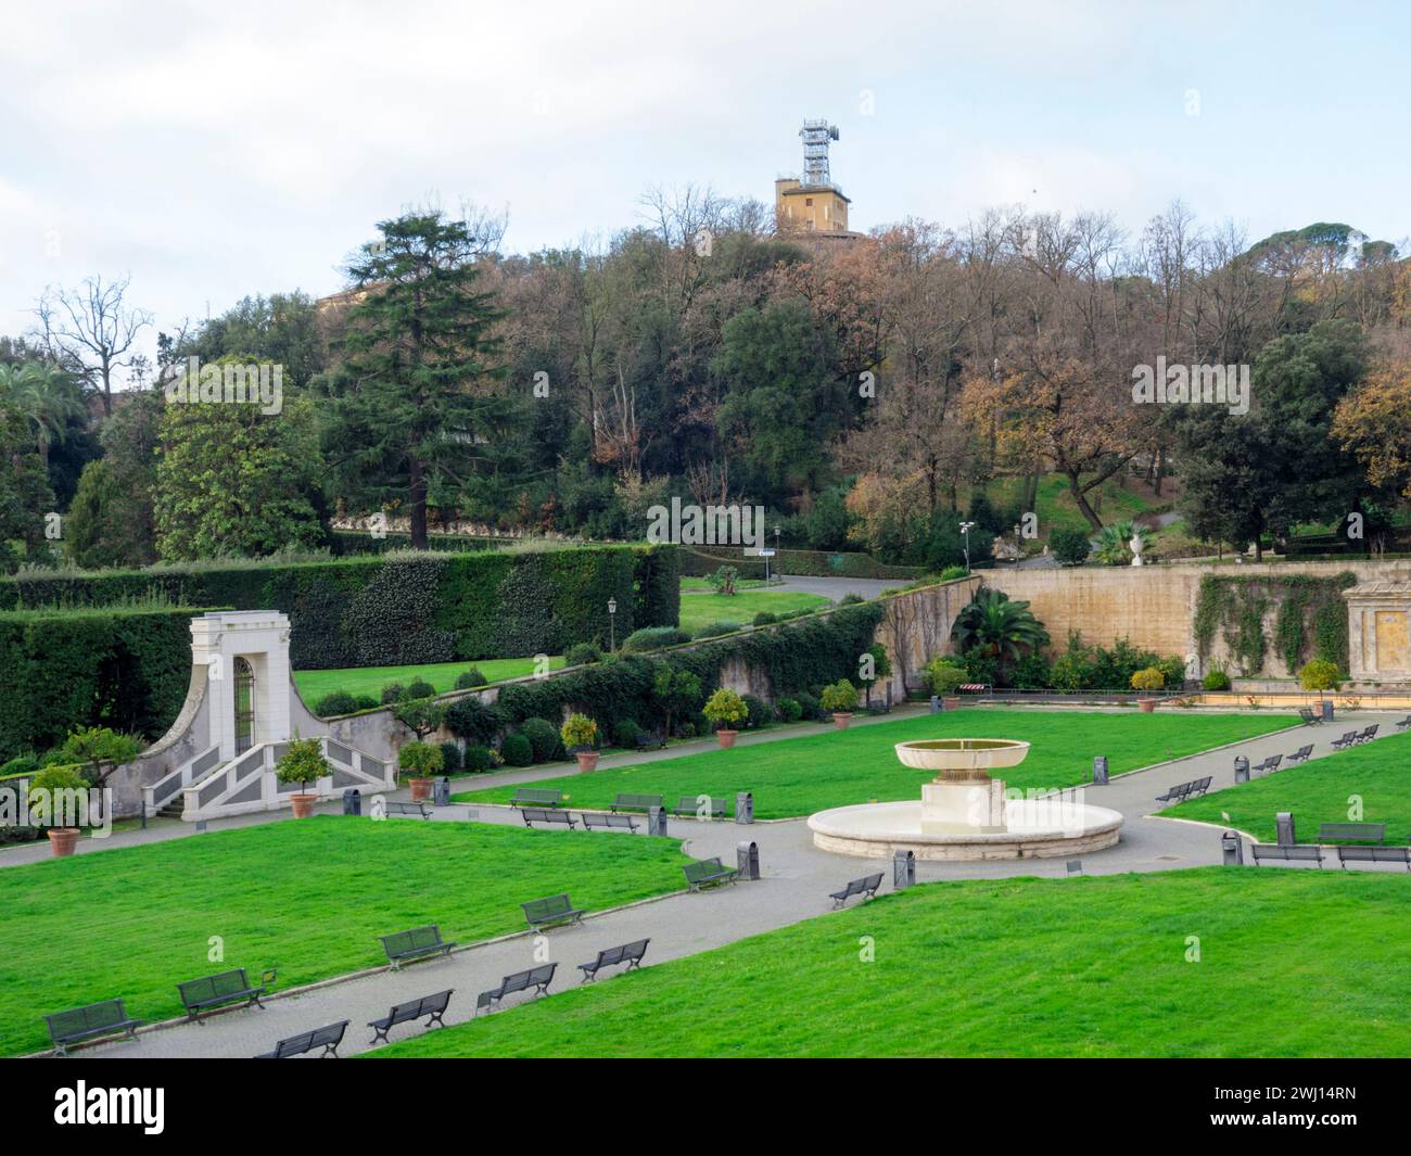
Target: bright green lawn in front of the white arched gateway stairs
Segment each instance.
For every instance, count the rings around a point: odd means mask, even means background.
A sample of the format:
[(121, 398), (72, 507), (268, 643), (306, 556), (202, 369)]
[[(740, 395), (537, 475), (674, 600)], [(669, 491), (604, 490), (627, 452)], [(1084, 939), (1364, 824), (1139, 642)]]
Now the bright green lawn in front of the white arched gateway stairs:
[(667, 838), (322, 816), (4, 868), (0, 1054), (47, 1047), (47, 1012), (121, 995), (165, 1019), (181, 980), (278, 967), (291, 988), (385, 963), (378, 936), (406, 927), (473, 943), (542, 895), (601, 910), (674, 891), (684, 861)]

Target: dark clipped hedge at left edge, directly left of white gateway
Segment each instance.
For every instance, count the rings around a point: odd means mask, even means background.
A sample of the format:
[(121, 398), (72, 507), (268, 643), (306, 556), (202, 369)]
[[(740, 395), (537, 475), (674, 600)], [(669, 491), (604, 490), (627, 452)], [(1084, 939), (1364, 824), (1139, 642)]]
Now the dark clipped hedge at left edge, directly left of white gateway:
[(205, 610), (0, 613), (0, 762), (73, 727), (161, 738), (190, 683), (190, 620)]

